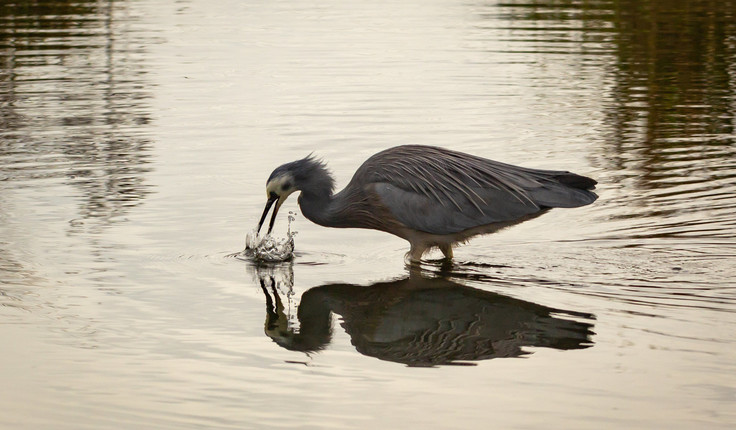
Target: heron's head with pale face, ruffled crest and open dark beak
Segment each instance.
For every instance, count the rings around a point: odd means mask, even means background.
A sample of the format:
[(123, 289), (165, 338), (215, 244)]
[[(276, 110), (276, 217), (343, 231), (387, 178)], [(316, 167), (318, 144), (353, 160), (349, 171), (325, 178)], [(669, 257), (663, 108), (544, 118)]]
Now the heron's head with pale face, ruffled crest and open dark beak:
[(263, 221), (265, 221), (269, 209), (275, 203), (276, 206), (268, 225), (268, 233), (271, 233), (279, 208), (294, 191), (327, 192), (327, 195), (329, 195), (333, 188), (334, 180), (324, 163), (311, 155), (277, 167), (266, 181), (266, 198), (268, 201), (266, 202), (266, 208), (263, 210), (263, 215), (261, 215), (261, 220), (258, 222), (258, 231), (261, 231)]

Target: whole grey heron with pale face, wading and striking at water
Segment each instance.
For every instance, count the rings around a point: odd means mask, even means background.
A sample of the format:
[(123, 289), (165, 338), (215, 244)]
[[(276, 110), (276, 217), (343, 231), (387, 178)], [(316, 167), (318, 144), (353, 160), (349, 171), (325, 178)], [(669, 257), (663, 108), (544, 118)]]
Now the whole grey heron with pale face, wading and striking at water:
[(276, 213), (289, 194), (301, 191), (304, 216), (326, 227), (358, 227), (385, 231), (411, 244), (409, 256), (419, 260), (439, 247), (452, 258), (452, 246), (490, 233), (545, 209), (577, 207), (598, 196), (588, 191), (593, 179), (570, 172), (512, 166), (431, 146), (407, 145), (375, 154), (358, 168), (350, 183), (333, 195), (335, 181), (314, 158), (284, 164), (266, 184)]

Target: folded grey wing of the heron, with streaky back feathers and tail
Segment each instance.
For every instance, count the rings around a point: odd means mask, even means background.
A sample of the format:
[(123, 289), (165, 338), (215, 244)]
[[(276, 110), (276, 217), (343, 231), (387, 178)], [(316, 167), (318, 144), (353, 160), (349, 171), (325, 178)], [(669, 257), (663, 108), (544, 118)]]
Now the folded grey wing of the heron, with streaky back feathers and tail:
[(378, 153), (361, 170), (400, 222), (433, 234), (513, 221), (545, 208), (583, 206), (597, 198), (587, 191), (595, 181), (584, 176), (419, 145)]

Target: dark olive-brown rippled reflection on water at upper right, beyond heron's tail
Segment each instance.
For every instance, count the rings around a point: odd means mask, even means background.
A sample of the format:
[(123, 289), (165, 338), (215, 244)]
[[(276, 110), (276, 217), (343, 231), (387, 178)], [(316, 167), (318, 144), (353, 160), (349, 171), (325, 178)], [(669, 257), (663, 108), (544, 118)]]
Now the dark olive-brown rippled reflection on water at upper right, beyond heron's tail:
[[(604, 186), (620, 190), (610, 203), (627, 208), (609, 219), (675, 217), (624, 225), (617, 236), (733, 236), (736, 2), (532, 0), (499, 8), (515, 40), (534, 40), (540, 55), (601, 65), (606, 142), (596, 163), (609, 175)], [(696, 215), (703, 211), (707, 227)]]

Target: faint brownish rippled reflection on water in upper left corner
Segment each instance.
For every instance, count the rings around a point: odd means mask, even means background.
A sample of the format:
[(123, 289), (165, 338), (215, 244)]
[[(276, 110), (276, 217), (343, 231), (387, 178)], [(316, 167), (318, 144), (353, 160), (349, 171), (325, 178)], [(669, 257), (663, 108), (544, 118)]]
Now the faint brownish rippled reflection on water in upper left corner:
[(79, 218), (96, 227), (149, 192), (146, 41), (123, 28), (124, 7), (0, 6), (0, 179), (20, 187), (60, 179), (84, 196)]

